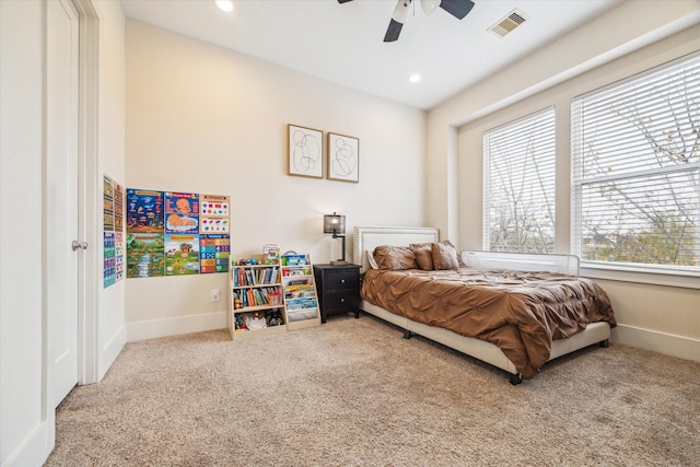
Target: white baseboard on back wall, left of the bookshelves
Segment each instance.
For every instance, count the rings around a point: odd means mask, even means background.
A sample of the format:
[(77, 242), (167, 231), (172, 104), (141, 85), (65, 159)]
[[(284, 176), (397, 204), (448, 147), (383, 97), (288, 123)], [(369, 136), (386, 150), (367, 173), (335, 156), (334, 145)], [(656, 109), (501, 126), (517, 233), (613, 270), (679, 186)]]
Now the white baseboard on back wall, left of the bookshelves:
[(127, 323), (127, 341), (201, 332), (226, 327), (226, 312)]

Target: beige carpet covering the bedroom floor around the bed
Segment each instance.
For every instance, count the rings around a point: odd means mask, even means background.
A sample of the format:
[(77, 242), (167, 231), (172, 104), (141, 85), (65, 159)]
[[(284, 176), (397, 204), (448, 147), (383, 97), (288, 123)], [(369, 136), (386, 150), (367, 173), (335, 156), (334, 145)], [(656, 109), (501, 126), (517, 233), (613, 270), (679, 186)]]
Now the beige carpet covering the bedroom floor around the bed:
[(612, 343), (506, 375), (370, 316), (127, 345), (47, 466), (697, 466), (700, 364)]

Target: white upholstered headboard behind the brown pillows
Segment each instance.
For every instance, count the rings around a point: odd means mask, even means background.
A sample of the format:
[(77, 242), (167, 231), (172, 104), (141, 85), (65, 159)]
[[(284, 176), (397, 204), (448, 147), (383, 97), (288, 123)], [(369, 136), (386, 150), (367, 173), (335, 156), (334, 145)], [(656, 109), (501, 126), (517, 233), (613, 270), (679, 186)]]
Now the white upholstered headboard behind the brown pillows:
[(366, 252), (373, 252), (377, 246), (439, 241), (440, 231), (432, 227), (354, 227), (354, 264), (364, 273), (370, 268)]

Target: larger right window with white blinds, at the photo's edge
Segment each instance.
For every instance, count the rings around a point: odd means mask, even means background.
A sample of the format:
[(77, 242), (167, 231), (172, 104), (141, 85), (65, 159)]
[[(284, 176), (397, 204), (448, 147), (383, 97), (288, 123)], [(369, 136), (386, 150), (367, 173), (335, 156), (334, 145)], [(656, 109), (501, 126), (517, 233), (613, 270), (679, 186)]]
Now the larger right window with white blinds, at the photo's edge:
[(572, 252), (699, 271), (700, 54), (575, 97), (571, 112)]

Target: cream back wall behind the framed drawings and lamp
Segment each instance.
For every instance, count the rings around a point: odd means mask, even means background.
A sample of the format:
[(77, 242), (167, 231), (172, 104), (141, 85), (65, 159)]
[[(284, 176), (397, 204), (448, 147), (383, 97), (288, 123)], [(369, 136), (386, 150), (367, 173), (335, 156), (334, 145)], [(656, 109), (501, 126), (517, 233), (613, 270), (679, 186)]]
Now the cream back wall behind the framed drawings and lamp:
[[(360, 183), (287, 175), (288, 124), (359, 138)], [(235, 258), (278, 243), (336, 259), (332, 211), (350, 233), (423, 225), (424, 135), (423, 112), (127, 20), (127, 186), (230, 195)], [(226, 280), (128, 279), (129, 340), (224, 327), (209, 296)]]

